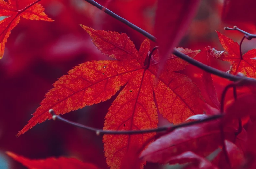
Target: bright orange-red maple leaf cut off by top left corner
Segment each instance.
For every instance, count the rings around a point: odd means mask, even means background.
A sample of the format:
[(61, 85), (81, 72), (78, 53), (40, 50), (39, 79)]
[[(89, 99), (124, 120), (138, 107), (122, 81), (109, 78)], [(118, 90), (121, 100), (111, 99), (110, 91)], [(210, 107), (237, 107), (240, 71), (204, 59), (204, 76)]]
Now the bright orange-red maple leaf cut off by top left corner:
[(30, 20), (44, 20), (52, 22), (51, 18), (43, 12), (44, 8), (38, 3), (31, 3), (23, 9), (19, 9), (21, 0), (9, 0), (8, 3), (0, 0), (0, 16), (8, 16), (0, 21), (0, 59), (4, 55), (5, 43), (11, 30), (20, 22), (20, 17)]

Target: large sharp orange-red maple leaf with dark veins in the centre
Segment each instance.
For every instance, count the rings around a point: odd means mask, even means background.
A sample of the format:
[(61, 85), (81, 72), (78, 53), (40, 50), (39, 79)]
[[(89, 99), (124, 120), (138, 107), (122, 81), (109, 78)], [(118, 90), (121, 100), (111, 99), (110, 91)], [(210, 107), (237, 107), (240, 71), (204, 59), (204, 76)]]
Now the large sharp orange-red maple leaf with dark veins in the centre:
[[(203, 112), (199, 105), (201, 95), (197, 86), (185, 75), (175, 72), (184, 69), (188, 63), (172, 55), (166, 61), (164, 71), (157, 78), (159, 53), (151, 58), (150, 65), (144, 65), (150, 49), (149, 39), (142, 42), (137, 51), (133, 42), (124, 33), (94, 30), (83, 25), (82, 27), (103, 54), (116, 60), (85, 62), (70, 70), (68, 75), (59, 78), (17, 136), (37, 123), (51, 119), (49, 109), (54, 109), (59, 115), (106, 101), (124, 85), (109, 108), (104, 130), (157, 128), (156, 104), (160, 113), (175, 124)], [(199, 52), (183, 48), (178, 50), (191, 57)], [(107, 164), (112, 169), (120, 168), (130, 148), (141, 148), (147, 139), (154, 135), (104, 135)], [(138, 166), (143, 168), (143, 162)]]

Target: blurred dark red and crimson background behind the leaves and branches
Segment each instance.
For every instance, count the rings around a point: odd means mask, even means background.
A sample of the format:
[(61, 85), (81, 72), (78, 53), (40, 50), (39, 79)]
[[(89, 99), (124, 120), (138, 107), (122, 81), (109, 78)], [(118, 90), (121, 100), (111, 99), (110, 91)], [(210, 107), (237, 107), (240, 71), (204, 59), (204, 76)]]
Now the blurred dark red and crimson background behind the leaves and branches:
[[(25, 0), (26, 1), (26, 0)], [(27, 0), (28, 3), (32, 2)], [(98, 0), (121, 17), (153, 33), (156, 0)], [(45, 13), (54, 22), (31, 21), (21, 18), (7, 40), (5, 54), (0, 60), (0, 169), (23, 169), (5, 154), (11, 151), (28, 158), (50, 156), (75, 157), (106, 169), (102, 137), (59, 121), (47, 120), (16, 138), (52, 84), (68, 70), (89, 60), (109, 59), (93, 45), (89, 35), (79, 26), (126, 33), (138, 49), (145, 37), (103, 11), (83, 0), (42, 0)], [(242, 34), (226, 31), (233, 23), (221, 20), (223, 1), (204, 0), (179, 47), (204, 49), (206, 46), (222, 50), (215, 30), (240, 42)], [(222, 17), (223, 18), (223, 17)], [(0, 20), (2, 20), (0, 18)], [(235, 22), (235, 20), (232, 20)], [(250, 21), (250, 20), (249, 20)], [(248, 22), (248, 21), (247, 21)], [(235, 23), (234, 23), (235, 24)], [(253, 26), (241, 25), (254, 33)], [(156, 46), (154, 42), (152, 47)], [(243, 53), (255, 48), (255, 41), (245, 40)], [(205, 63), (206, 57), (196, 59)], [(210, 58), (211, 65), (226, 71), (230, 63)], [(201, 70), (188, 66), (183, 72), (194, 82), (200, 80)], [(223, 86), (215, 82), (218, 96)], [(118, 93), (117, 93), (118, 94)], [(107, 109), (117, 96), (96, 105), (63, 115), (64, 118), (91, 127), (102, 128)], [(167, 122), (160, 118), (159, 125)], [(148, 163), (145, 169), (163, 168)]]

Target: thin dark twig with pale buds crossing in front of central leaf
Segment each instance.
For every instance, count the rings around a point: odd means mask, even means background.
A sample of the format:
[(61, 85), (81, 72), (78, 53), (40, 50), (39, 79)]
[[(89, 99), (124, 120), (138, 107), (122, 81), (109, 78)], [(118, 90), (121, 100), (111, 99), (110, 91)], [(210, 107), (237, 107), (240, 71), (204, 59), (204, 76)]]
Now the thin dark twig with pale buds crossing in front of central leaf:
[(49, 113), (52, 115), (53, 120), (59, 120), (59, 121), (62, 121), (64, 123), (70, 124), (75, 127), (83, 128), (85, 130), (94, 131), (97, 136), (102, 135), (102, 134), (142, 134), (142, 133), (154, 133), (154, 132), (163, 132), (163, 131), (171, 132), (177, 128), (200, 124), (200, 123), (216, 120), (216, 119), (223, 117), (222, 114), (219, 114), (219, 115), (210, 116), (203, 120), (181, 123), (181, 124), (169, 126), (169, 127), (158, 127), (158, 128), (152, 128), (152, 129), (146, 129), (146, 130), (119, 130), (119, 131), (116, 131), (116, 130), (102, 130), (102, 129), (93, 128), (93, 127), (85, 126), (85, 125), (82, 125), (82, 124), (79, 124), (76, 122), (69, 121), (67, 119), (62, 118), (59, 115), (56, 115), (53, 109), (50, 109)]

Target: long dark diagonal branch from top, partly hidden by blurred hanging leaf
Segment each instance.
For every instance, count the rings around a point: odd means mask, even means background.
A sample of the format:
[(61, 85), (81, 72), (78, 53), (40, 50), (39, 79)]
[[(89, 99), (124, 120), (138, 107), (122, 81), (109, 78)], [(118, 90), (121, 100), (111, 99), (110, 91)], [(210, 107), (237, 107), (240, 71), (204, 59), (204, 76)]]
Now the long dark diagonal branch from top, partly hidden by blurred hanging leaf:
[[(127, 21), (126, 19), (120, 17), (119, 15), (113, 13), (111, 10), (105, 8), (104, 6), (98, 4), (97, 2), (93, 1), (93, 0), (85, 0), (87, 1), (88, 3), (92, 4), (93, 6), (97, 7), (98, 9), (104, 11), (106, 14), (112, 16), (113, 18), (121, 21), (122, 23), (126, 24), (127, 26), (129, 26), (130, 28), (138, 31), (139, 33), (141, 33), (142, 35), (144, 35), (145, 37), (149, 38), (150, 40), (156, 42), (156, 37), (154, 37), (153, 35), (151, 35), (150, 33), (146, 32), (145, 30), (139, 28), (138, 26), (134, 25), (133, 23)], [(251, 34), (250, 34), (251, 35)], [(176, 49), (173, 50), (173, 54), (175, 54), (176, 56), (182, 58), (183, 60), (187, 61), (188, 63), (204, 70), (204, 71), (207, 71), (209, 73), (212, 73), (214, 75), (217, 75), (219, 77), (222, 77), (222, 78), (226, 78), (226, 79), (229, 79), (231, 81), (238, 81), (241, 79), (241, 77), (239, 76), (235, 76), (235, 75), (231, 75), (231, 74), (228, 74), (226, 72), (223, 72), (223, 71), (220, 71), (218, 69), (215, 69), (211, 66), (208, 66), (208, 65), (205, 65), (191, 57), (189, 57), (188, 55), (186, 54), (183, 54), (179, 51), (177, 51)], [(253, 82), (253, 83), (256, 83), (256, 80), (253, 79), (253, 78), (246, 78), (246, 81), (248, 82)]]

